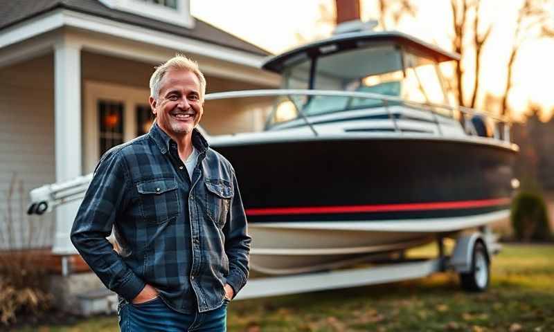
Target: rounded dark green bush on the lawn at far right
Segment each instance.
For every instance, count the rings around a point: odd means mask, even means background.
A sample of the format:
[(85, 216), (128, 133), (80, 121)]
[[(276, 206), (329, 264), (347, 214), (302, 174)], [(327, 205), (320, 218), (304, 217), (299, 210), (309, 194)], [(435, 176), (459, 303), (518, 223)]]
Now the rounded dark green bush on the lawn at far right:
[(515, 237), (520, 241), (547, 241), (552, 239), (548, 224), (548, 210), (541, 194), (520, 192), (512, 202), (510, 215)]

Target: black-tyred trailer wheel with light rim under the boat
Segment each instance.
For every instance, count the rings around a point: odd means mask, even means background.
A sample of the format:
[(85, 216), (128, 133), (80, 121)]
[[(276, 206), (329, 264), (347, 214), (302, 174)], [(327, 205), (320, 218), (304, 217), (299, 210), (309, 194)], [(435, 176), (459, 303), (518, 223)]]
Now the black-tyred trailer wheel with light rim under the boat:
[(487, 251), (481, 241), (473, 247), (472, 269), (468, 273), (460, 273), (461, 286), (465, 291), (483, 292), (490, 282), (490, 262)]

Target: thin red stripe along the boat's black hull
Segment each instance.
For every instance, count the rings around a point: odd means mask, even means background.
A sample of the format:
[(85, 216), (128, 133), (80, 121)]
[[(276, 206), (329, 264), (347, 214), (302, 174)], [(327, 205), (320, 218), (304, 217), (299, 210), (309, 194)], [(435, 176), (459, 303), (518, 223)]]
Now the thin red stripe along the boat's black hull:
[(508, 205), (511, 199), (481, 199), (477, 201), (452, 201), (431, 203), (378, 204), (378, 205), (346, 205), (346, 206), (314, 206), (305, 208), (265, 208), (247, 209), (249, 216), (267, 216), (282, 214), (332, 214), (360, 212), (395, 212), (486, 208), (495, 205)]

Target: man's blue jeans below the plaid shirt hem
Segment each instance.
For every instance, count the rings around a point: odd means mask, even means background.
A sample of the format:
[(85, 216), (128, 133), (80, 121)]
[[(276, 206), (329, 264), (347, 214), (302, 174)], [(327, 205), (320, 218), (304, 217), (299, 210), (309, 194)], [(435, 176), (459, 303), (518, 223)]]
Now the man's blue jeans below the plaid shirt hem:
[(123, 304), (118, 310), (121, 332), (226, 331), (227, 304), (204, 313), (179, 313), (168, 307), (161, 297), (141, 304)]

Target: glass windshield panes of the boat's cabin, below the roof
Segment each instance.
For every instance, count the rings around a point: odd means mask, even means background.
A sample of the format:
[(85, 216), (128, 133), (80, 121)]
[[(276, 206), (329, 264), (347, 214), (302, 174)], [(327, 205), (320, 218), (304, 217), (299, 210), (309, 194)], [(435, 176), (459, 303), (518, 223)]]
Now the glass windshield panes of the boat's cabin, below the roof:
[[(312, 68), (314, 62), (314, 68)], [(313, 70), (312, 82), (310, 71)], [(376, 93), (399, 97), (406, 102), (451, 104), (441, 83), (438, 64), (425, 54), (383, 44), (366, 48), (351, 48), (305, 57), (288, 64), (283, 71), (284, 89), (314, 89)], [(380, 98), (354, 98), (330, 95), (291, 95), (288, 106), (276, 107), (268, 124), (304, 116), (382, 107)], [(397, 102), (388, 102), (388, 105)], [(443, 113), (440, 109), (437, 113)], [(444, 111), (449, 114), (449, 111)]]

